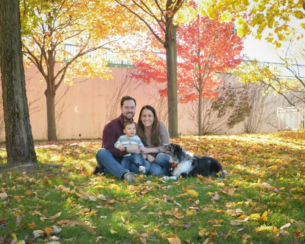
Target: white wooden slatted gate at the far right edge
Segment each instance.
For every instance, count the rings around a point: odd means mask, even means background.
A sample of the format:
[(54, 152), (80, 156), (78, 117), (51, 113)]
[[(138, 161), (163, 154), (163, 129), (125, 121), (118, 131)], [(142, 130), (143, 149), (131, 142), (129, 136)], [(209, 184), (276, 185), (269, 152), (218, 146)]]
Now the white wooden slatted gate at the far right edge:
[(277, 110), (279, 131), (305, 129), (305, 105)]

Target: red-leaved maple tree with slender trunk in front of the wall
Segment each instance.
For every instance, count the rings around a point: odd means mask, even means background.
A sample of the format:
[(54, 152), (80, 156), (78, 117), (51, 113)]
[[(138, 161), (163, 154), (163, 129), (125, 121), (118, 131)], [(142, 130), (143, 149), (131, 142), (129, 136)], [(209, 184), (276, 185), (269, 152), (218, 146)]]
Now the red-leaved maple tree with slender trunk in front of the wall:
[[(196, 9), (196, 5), (194, 4)], [(221, 84), (218, 74), (234, 69), (242, 61), (243, 39), (236, 34), (233, 21), (221, 23), (207, 16), (197, 15), (189, 24), (177, 29), (177, 83), (179, 102), (198, 100), (198, 134), (202, 134), (202, 102), (204, 98), (215, 99), (214, 88)], [(156, 43), (151, 43), (156, 46)], [(151, 46), (150, 46), (150, 49)], [(146, 83), (165, 83), (166, 62), (156, 53), (149, 52), (135, 62), (142, 72), (133, 74)], [(162, 53), (161, 53), (162, 55)], [(167, 88), (159, 90), (167, 96)]]

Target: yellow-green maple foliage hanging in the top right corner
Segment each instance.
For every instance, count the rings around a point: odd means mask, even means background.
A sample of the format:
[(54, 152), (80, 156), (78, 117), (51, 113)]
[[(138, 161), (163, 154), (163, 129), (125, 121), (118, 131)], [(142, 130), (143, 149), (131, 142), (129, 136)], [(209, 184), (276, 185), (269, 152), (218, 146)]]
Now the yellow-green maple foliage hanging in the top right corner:
[(267, 30), (265, 39), (277, 47), (280, 47), (281, 42), (287, 40), (291, 33), (298, 34), (291, 25), (291, 20), (298, 19), (300, 27), (305, 28), (304, 0), (204, 0), (198, 1), (198, 4), (202, 14), (213, 19), (217, 13), (221, 13), (222, 21), (236, 20), (237, 33), (240, 36), (245, 37), (252, 32), (257, 39), (261, 39), (263, 31)]

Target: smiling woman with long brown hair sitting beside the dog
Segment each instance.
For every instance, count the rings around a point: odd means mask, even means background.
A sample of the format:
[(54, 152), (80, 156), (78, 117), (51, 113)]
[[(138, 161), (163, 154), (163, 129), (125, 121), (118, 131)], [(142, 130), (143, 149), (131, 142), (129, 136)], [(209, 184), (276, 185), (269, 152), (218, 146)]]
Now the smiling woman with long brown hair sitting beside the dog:
[(156, 110), (152, 106), (142, 107), (137, 133), (145, 146), (140, 148), (143, 158), (151, 163), (149, 174), (169, 175), (170, 157), (162, 154), (162, 152), (165, 152), (162, 144), (170, 143), (170, 135), (165, 124), (158, 120)]

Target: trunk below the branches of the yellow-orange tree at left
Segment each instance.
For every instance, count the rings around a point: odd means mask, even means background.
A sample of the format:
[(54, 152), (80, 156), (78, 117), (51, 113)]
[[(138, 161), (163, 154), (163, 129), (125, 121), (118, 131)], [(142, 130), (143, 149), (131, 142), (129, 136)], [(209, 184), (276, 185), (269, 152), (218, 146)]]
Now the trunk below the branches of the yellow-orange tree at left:
[(56, 141), (56, 121), (55, 121), (55, 92), (45, 90), (47, 101), (47, 121), (48, 121), (48, 141)]

